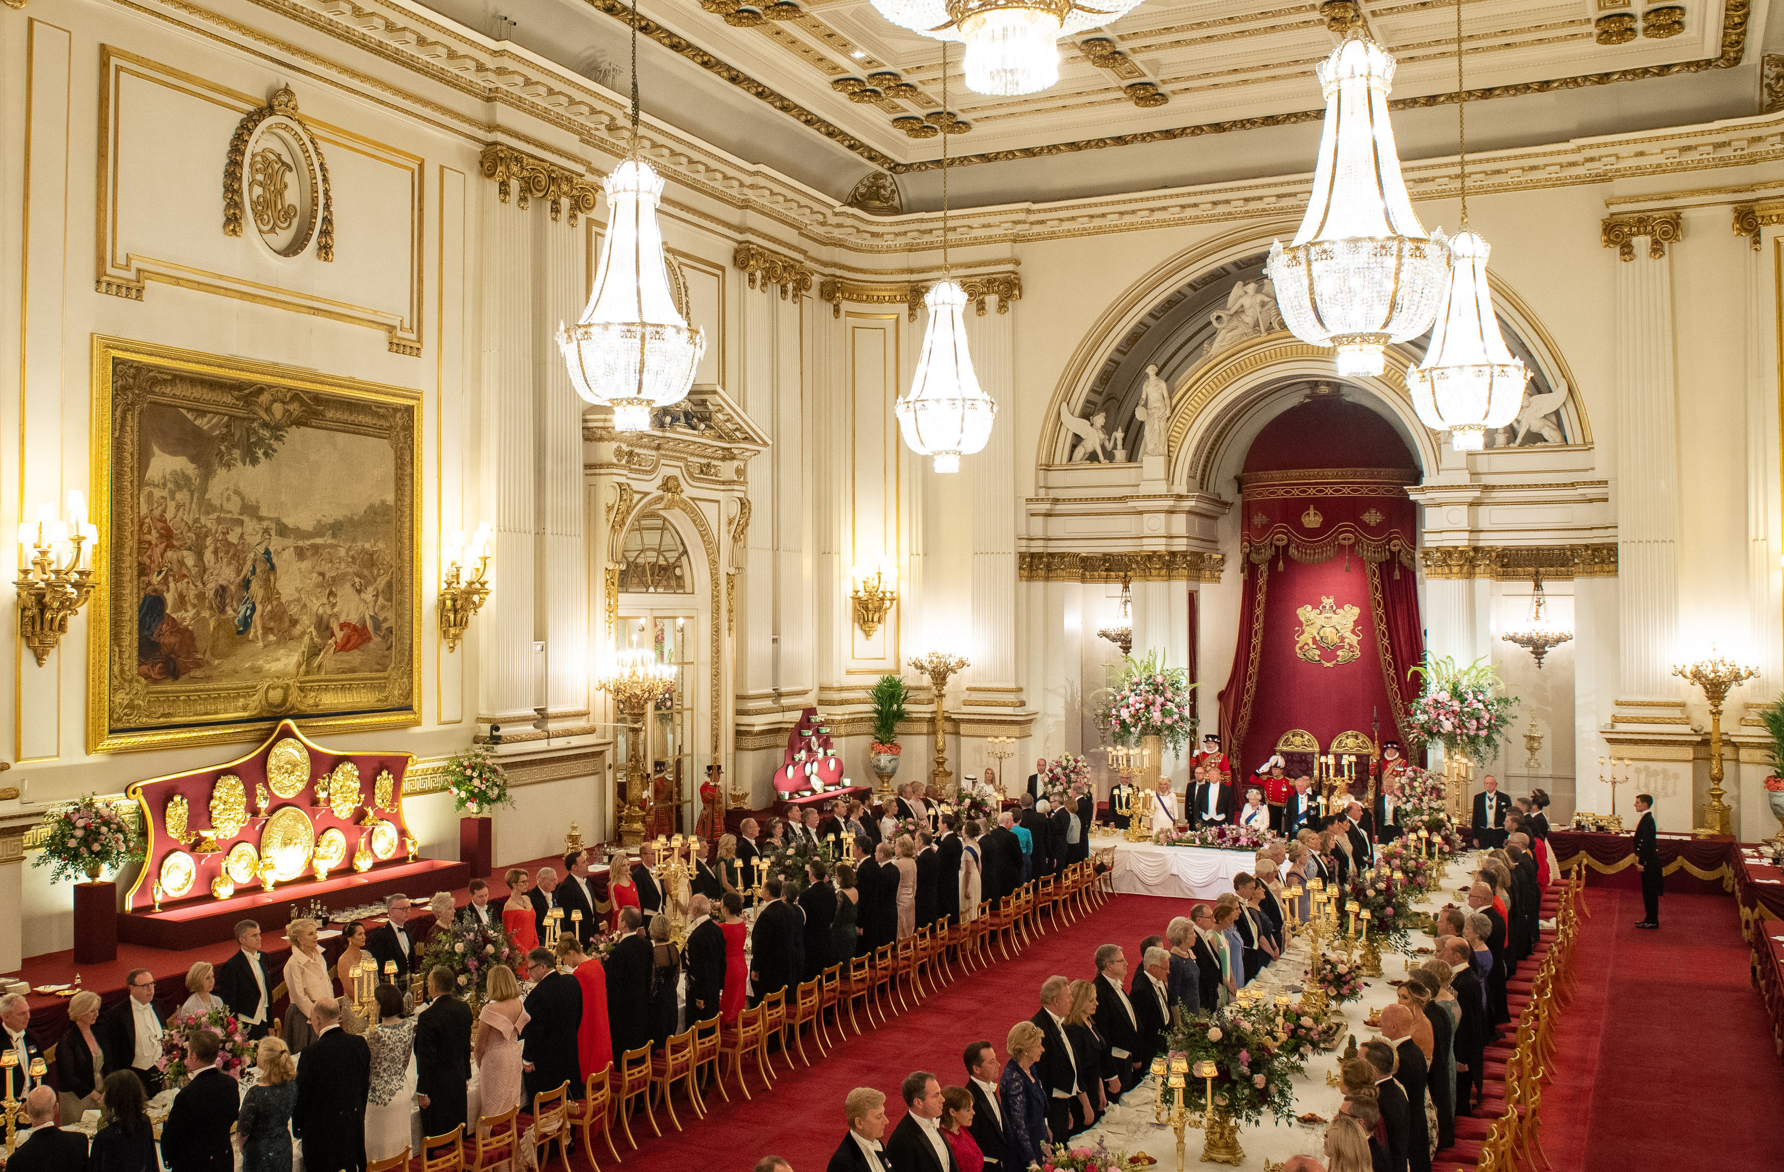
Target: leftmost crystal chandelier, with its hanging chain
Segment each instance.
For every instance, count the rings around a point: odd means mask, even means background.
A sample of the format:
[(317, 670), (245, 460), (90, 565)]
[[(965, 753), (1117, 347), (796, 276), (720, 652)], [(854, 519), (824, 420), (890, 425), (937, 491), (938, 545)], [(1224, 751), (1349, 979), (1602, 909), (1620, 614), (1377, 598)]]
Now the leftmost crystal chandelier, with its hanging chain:
[(632, 4), (632, 143), (607, 189), (607, 239), (589, 305), (573, 326), (558, 323), (569, 380), (589, 403), (614, 409), (614, 430), (644, 432), (651, 409), (678, 403), (694, 385), (706, 350), (669, 293), (657, 202), (664, 180), (639, 157), (639, 7)]

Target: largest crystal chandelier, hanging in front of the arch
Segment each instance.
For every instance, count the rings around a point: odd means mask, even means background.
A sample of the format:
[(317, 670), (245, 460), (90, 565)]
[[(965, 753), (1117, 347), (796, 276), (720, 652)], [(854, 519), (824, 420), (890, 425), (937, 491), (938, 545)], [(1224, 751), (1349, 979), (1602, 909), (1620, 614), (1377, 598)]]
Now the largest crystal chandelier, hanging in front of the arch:
[(1340, 375), (1379, 375), (1383, 346), (1431, 328), (1449, 248), (1425, 234), (1400, 178), (1388, 121), (1393, 57), (1359, 27), (1318, 66), (1326, 128), (1308, 214), (1288, 248), (1270, 246), (1283, 321), (1334, 346)]

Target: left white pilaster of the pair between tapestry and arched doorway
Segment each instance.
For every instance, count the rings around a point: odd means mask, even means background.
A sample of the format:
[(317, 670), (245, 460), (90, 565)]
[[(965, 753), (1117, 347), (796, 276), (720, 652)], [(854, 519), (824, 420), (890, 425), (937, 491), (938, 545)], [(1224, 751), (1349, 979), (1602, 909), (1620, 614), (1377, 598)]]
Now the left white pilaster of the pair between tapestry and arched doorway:
[(478, 615), (478, 721), (517, 721), (537, 703), (533, 665), (535, 432), (533, 250), (528, 212), (483, 200), (483, 400), (485, 501), (492, 501), (496, 605)]

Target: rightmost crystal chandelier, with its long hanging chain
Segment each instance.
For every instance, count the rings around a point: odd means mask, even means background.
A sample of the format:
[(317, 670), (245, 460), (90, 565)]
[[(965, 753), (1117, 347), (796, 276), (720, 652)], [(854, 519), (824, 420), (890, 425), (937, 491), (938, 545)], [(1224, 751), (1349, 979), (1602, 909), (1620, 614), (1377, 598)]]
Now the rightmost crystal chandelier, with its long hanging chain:
[[(1450, 239), (1449, 294), (1431, 328), (1425, 360), (1406, 371), (1418, 419), (1431, 430), (1449, 428), (1456, 451), (1481, 451), (1486, 428), (1518, 417), (1524, 362), (1506, 350), (1486, 285), (1486, 241), (1468, 230), (1468, 102), (1461, 80), (1461, 0), (1456, 0), (1456, 128), (1461, 175), (1461, 230)], [(1538, 587), (1540, 589), (1540, 587)], [(1541, 655), (1536, 665), (1541, 667)]]

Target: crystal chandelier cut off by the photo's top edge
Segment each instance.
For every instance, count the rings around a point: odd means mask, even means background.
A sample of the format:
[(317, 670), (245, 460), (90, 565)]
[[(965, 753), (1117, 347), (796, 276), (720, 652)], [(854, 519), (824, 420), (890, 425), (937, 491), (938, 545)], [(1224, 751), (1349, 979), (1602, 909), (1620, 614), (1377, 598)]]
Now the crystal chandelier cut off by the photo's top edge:
[(1097, 29), (1140, 0), (872, 0), (899, 29), (967, 46), (967, 89), (1013, 98), (1060, 80), (1063, 36)]

